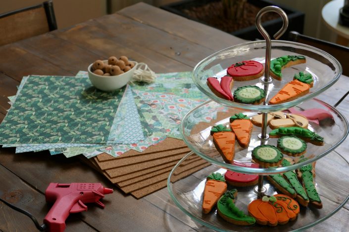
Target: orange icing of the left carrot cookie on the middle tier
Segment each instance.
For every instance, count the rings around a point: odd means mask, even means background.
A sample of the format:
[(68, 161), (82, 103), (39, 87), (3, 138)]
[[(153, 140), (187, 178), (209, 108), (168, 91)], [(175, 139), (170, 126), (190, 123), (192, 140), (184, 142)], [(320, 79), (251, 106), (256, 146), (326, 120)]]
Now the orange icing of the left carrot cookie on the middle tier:
[(213, 134), (213, 143), (218, 146), (221, 155), (228, 161), (233, 161), (235, 155), (235, 134), (230, 131)]

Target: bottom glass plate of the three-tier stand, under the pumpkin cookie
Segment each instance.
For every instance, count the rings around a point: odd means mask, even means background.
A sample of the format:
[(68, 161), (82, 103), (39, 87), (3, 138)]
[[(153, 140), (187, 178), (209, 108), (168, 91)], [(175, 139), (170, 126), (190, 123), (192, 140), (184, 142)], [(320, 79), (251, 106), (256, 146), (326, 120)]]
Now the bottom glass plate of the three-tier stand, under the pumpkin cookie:
[[(331, 153), (316, 162), (316, 188), (320, 195), (323, 208), (315, 209), (311, 206), (300, 206), (300, 213), (295, 221), (288, 222), (276, 227), (261, 226), (236, 226), (224, 221), (214, 207), (208, 214), (202, 213), (202, 193), (205, 186), (206, 177), (212, 172), (225, 173), (225, 169), (216, 165), (210, 165), (191, 176), (180, 181), (171, 182), (175, 176), (175, 171), (181, 162), (191, 155), (186, 155), (171, 171), (168, 181), (168, 191), (176, 205), (188, 216), (200, 224), (217, 231), (237, 231), (237, 232), (269, 232), (269, 231), (300, 231), (312, 227), (326, 220), (339, 209), (341, 209), (349, 199), (349, 163), (345, 158), (337, 153)], [(268, 181), (264, 181), (267, 195), (276, 194), (276, 190)], [(228, 190), (238, 190), (236, 206), (248, 215), (248, 204), (256, 199), (254, 186), (233, 187), (228, 185)]]

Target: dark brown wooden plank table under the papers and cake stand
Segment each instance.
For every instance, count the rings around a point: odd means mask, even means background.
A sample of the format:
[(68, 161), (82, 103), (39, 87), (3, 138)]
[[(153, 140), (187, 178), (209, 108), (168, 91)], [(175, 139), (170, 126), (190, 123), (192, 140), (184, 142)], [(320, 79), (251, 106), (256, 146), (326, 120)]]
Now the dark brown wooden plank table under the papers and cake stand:
[[(234, 36), (158, 8), (139, 3), (116, 14), (0, 47), (0, 120), (25, 75), (75, 75), (103, 57), (124, 54), (147, 63), (157, 73), (191, 71), (204, 57), (244, 42)], [(343, 78), (342, 78), (343, 79)], [(334, 104), (345, 92), (340, 80), (321, 95)], [(335, 90), (335, 91), (333, 91)], [(342, 94), (342, 95), (341, 95)], [(345, 100), (339, 109), (348, 116)], [(336, 151), (349, 157), (349, 143)], [(78, 158), (48, 152), (14, 154), (0, 149), (0, 196), (33, 213), (40, 221), (49, 208), (44, 192), (50, 182), (101, 182), (113, 186)], [(102, 210), (93, 205), (72, 214), (66, 231), (209, 231), (177, 208), (166, 189), (140, 200), (117, 189), (104, 198)], [(309, 231), (347, 231), (349, 205)], [(35, 231), (26, 216), (0, 203), (0, 231)]]

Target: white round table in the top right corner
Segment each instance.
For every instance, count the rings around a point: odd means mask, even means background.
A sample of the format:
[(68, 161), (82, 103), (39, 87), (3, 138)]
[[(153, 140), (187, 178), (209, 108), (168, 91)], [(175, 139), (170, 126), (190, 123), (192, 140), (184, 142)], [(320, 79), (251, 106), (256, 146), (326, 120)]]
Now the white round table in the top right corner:
[(344, 0), (332, 0), (322, 8), (322, 19), (326, 26), (337, 33), (337, 43), (348, 46), (349, 27), (342, 26), (338, 23), (339, 10), (344, 6)]

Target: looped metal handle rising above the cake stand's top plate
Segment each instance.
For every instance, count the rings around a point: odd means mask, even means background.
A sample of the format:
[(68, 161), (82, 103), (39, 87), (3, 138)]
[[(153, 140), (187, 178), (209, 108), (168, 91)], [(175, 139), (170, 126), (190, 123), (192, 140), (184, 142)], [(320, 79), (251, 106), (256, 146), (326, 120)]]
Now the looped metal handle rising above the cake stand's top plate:
[(271, 39), (269, 34), (265, 31), (265, 29), (262, 26), (261, 18), (265, 13), (268, 12), (275, 12), (278, 13), (283, 21), (282, 28), (275, 33), (274, 38), (279, 39), (287, 30), (287, 27), (289, 26), (289, 19), (287, 18), (287, 14), (285, 11), (283, 11), (280, 7), (277, 6), (266, 6), (262, 8), (257, 16), (256, 16), (256, 27), (259, 31), (259, 33), (264, 37), (265, 43), (266, 43), (266, 49), (265, 49), (265, 73), (264, 73), (264, 82), (271, 82), (272, 79), (269, 77), (270, 73), (270, 58), (271, 58)]

